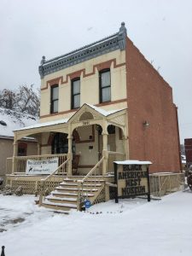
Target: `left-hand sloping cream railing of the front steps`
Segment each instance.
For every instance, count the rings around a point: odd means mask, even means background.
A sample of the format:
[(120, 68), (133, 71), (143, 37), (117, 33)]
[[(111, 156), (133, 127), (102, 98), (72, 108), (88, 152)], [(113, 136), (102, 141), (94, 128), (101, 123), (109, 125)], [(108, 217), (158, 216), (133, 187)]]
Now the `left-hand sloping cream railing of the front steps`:
[[(45, 177), (44, 179), (41, 180), (41, 189), (40, 189), (40, 195), (39, 195), (39, 206), (42, 205), (42, 202), (44, 200), (45, 195), (49, 195), (49, 193), (55, 189), (57, 184), (55, 183), (55, 178), (56, 175), (62, 175), (67, 176), (67, 166), (68, 166), (68, 161), (70, 159), (67, 159), (65, 162), (61, 164), (54, 172), (52, 172), (48, 177)], [(65, 171), (66, 170), (66, 171)], [(53, 184), (54, 187), (53, 187)], [(59, 183), (58, 183), (59, 184)]]

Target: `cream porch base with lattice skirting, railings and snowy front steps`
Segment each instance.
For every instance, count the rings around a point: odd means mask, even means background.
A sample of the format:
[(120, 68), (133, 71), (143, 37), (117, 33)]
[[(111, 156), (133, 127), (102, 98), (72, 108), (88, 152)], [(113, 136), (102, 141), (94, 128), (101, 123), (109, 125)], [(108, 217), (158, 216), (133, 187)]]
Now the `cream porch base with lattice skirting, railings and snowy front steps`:
[[(39, 195), (40, 206), (60, 211), (68, 211), (73, 207), (81, 209), (82, 198), (89, 198), (91, 204), (108, 201), (113, 199), (114, 194), (113, 161), (125, 160), (125, 154), (107, 150), (103, 151), (103, 154), (101, 160), (84, 176), (70, 175), (70, 159), (67, 154), (10, 158), (7, 160), (7, 166), (10, 168), (14, 165), (17, 172), (7, 175), (7, 184), (14, 191), (20, 187), (24, 194)], [(55, 157), (58, 158), (60, 166), (51, 174), (26, 174), (27, 160), (50, 160)], [(110, 172), (103, 174), (104, 165)]]

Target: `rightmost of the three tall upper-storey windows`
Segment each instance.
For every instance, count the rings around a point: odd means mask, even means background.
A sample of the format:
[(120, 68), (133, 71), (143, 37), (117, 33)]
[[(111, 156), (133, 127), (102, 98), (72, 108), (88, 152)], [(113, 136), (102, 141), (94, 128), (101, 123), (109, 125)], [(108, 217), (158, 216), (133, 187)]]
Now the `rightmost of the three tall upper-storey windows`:
[(111, 74), (110, 69), (99, 73), (100, 103), (111, 101)]

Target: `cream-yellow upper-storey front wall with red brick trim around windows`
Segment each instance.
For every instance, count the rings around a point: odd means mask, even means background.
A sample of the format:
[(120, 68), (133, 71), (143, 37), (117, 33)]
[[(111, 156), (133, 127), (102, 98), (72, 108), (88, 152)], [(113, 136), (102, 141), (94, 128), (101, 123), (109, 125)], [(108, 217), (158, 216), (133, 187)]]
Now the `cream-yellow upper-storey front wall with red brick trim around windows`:
[[(81, 69), (85, 68), (85, 73), (92, 73), (93, 66), (105, 61), (116, 59), (116, 64), (125, 63), (125, 50), (120, 51), (119, 49), (110, 52), (106, 55), (97, 56), (89, 61), (84, 61), (72, 67), (67, 67), (61, 71), (48, 74), (42, 79), (41, 89), (46, 88), (47, 81), (51, 79), (56, 79), (58, 77), (63, 77), (65, 81), (67, 79), (67, 74), (75, 73)], [(111, 101), (118, 101), (126, 98), (126, 73), (125, 65), (117, 68), (113, 68), (113, 62), (110, 67), (111, 70)], [(90, 103), (96, 105), (99, 103), (99, 74), (96, 69), (96, 73), (88, 77), (83, 78), (83, 73), (81, 73), (80, 78), (81, 94), (80, 94), (80, 104)], [(126, 102), (120, 102), (113, 105), (103, 106), (103, 109), (119, 109), (126, 108)], [(68, 80), (67, 84), (59, 85), (59, 112), (65, 112), (71, 110), (71, 81)], [(49, 115), (50, 113), (50, 87), (47, 90), (41, 90), (41, 109), (40, 115)], [(73, 113), (62, 113), (59, 115), (52, 115), (49, 117), (44, 117), (40, 119), (41, 122), (67, 118)]]

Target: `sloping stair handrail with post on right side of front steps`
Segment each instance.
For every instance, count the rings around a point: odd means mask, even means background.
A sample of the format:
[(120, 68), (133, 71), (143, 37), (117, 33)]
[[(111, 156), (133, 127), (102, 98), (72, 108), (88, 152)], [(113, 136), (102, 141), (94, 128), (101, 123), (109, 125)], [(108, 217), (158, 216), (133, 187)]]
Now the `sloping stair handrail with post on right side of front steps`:
[[(84, 201), (82, 201), (82, 198), (84, 198), (84, 196), (81, 195), (81, 191), (82, 191), (82, 194), (84, 194), (84, 182), (85, 180), (87, 180), (88, 177), (90, 177), (90, 175), (96, 171), (96, 168), (98, 166), (100, 166), (103, 162), (103, 160), (105, 159), (105, 156), (102, 156), (102, 159), (99, 160), (97, 163), (96, 163), (96, 166), (94, 166), (90, 172), (87, 173), (87, 175), (82, 179), (82, 180), (79, 180), (78, 181), (78, 210), (81, 210), (81, 203), (84, 203)], [(96, 176), (96, 174), (95, 174)], [(96, 179), (95, 179), (95, 185), (96, 185)]]

